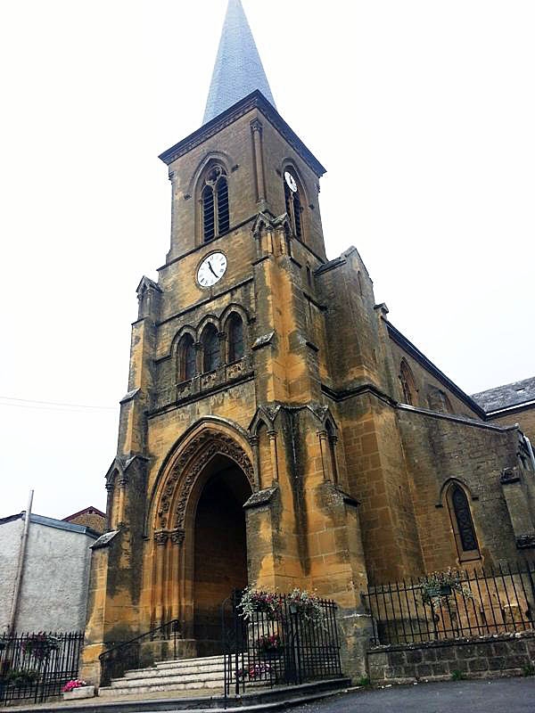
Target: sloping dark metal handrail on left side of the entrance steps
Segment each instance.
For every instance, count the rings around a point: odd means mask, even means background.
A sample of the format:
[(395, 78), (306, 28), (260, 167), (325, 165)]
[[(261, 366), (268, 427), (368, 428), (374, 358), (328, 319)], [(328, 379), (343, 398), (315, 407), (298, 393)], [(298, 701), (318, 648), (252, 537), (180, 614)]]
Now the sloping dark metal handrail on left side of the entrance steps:
[(129, 641), (114, 644), (98, 657), (101, 662), (101, 685), (110, 685), (112, 678), (121, 678), (125, 671), (152, 663), (150, 659), (144, 660), (142, 655), (144, 643), (161, 642), (162, 651), (159, 652), (159, 655), (162, 659), (166, 658), (166, 654), (169, 656), (171, 653), (172, 658), (176, 659), (177, 635), (179, 633), (180, 622), (178, 619), (171, 619), (161, 627), (153, 628)]

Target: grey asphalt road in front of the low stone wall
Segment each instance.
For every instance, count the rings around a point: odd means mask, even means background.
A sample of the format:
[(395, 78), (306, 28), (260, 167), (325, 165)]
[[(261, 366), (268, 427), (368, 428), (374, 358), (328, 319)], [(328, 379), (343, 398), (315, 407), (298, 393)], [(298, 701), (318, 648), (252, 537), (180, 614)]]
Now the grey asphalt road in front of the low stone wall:
[(357, 691), (293, 713), (535, 713), (535, 676)]

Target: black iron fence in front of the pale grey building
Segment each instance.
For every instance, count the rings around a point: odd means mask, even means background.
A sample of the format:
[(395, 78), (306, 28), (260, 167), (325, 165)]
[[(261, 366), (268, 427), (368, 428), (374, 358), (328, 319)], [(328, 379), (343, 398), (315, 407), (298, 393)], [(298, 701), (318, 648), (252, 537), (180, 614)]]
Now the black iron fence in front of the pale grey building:
[(78, 677), (84, 633), (0, 636), (0, 703), (44, 701)]

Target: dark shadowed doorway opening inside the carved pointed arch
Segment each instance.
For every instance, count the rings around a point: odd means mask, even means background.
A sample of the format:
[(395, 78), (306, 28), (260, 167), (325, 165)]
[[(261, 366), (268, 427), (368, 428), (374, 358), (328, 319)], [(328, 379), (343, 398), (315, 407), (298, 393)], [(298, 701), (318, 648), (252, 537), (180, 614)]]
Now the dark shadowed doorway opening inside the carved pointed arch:
[(221, 603), (247, 585), (243, 504), (251, 485), (225, 455), (208, 463), (202, 482), (193, 520), (193, 636), (197, 655), (207, 656), (221, 651)]

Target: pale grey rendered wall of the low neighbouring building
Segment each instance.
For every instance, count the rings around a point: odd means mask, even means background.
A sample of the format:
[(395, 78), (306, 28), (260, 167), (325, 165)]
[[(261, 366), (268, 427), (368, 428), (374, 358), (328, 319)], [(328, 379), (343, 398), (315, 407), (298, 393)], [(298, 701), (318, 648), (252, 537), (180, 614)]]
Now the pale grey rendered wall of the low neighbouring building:
[[(9, 623), (23, 528), (23, 519), (0, 526), (0, 630)], [(95, 537), (80, 526), (64, 523), (63, 528), (34, 522), (32, 516), (15, 622), (18, 631), (85, 627), (89, 547)]]

